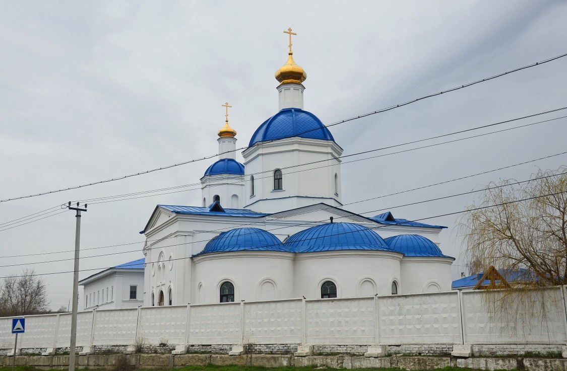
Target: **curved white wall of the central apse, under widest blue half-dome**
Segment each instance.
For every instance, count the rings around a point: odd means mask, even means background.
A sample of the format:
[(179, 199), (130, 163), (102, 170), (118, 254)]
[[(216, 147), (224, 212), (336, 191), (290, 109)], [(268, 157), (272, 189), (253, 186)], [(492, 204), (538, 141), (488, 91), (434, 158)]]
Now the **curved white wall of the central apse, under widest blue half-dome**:
[(321, 298), (321, 285), (332, 281), (337, 297), (355, 297), (368, 280), (378, 295), (390, 295), (392, 279), (400, 281), (402, 254), (391, 251), (338, 250), (302, 253), (295, 256), (295, 293), (309, 299)]

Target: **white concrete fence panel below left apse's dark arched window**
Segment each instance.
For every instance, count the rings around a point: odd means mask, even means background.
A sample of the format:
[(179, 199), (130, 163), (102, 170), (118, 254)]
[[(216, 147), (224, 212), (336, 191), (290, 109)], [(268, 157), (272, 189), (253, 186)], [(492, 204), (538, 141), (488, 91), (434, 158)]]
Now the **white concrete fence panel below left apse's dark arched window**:
[(239, 344), (240, 303), (191, 305), (190, 344)]

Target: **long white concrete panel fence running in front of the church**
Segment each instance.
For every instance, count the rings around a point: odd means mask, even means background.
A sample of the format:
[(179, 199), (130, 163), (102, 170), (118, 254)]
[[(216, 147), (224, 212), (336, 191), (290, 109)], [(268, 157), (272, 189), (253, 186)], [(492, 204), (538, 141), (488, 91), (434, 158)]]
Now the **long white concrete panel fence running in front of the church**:
[[(538, 289), (506, 313), (502, 292), (442, 292), (80, 312), (77, 346), (567, 344), (566, 288)], [(27, 315), (18, 349), (68, 348), (70, 313)], [(0, 318), (0, 349), (14, 347)], [(37, 351), (39, 352), (39, 350)]]

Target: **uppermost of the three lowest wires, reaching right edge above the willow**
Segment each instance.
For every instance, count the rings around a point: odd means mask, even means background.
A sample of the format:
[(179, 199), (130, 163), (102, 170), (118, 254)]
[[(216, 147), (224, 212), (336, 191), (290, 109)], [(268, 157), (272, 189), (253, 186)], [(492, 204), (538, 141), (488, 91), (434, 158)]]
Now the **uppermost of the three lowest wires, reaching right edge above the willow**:
[[(484, 171), (484, 172), (475, 173), (475, 174), (470, 174), (470, 175), (467, 175), (467, 176), (463, 176), (463, 177), (459, 177), (459, 178), (454, 178), (454, 179), (451, 179), (451, 180), (446, 180), (446, 181), (442, 181), (442, 182), (438, 182), (438, 183), (434, 183), (434, 184), (429, 184), (429, 185), (426, 185), (426, 186), (421, 186), (421, 187), (416, 187), (416, 188), (412, 188), (412, 189), (408, 189), (408, 190), (404, 190), (404, 191), (399, 191), (399, 192), (396, 192), (396, 193), (381, 195), (381, 196), (378, 196), (378, 197), (367, 198), (367, 199), (364, 199), (364, 200), (361, 200), (361, 201), (354, 201), (354, 202), (350, 202), (350, 203), (345, 203), (343, 206), (347, 206), (347, 205), (355, 204), (355, 203), (359, 203), (359, 202), (371, 201), (371, 200), (373, 200), (373, 199), (378, 199), (378, 198), (389, 197), (389, 196), (392, 196), (392, 195), (398, 195), (398, 194), (402, 194), (402, 193), (407, 193), (407, 192), (411, 192), (411, 191), (415, 191), (415, 190), (420, 190), (420, 189), (424, 189), (424, 188), (429, 188), (429, 187), (433, 187), (433, 186), (437, 186), (437, 185), (441, 185), (441, 184), (447, 184), (447, 183), (450, 183), (450, 182), (459, 181), (459, 180), (463, 180), (463, 179), (467, 179), (467, 178), (472, 178), (472, 177), (475, 177), (475, 176), (479, 176), (479, 175), (484, 175), (484, 174), (496, 172), (496, 171), (498, 171), (498, 170), (509, 169), (509, 168), (513, 168), (513, 167), (520, 166), (520, 165), (525, 165), (525, 164), (533, 163), (533, 162), (535, 162), (535, 161), (545, 160), (545, 159), (549, 159), (549, 158), (551, 158), (551, 157), (561, 156), (561, 155), (565, 155), (565, 154), (567, 154), (567, 152), (556, 153), (555, 155), (549, 155), (549, 156), (539, 157), (538, 159), (523, 161), (523, 162), (521, 162), (521, 163), (517, 163), (517, 164), (513, 164), (513, 165), (507, 165), (507, 166), (505, 166), (505, 167), (496, 168), (496, 169), (492, 169), (492, 170), (486, 170), (486, 171)], [(264, 221), (259, 221), (259, 222), (255, 222), (255, 223), (248, 223), (248, 224), (240, 224), (240, 225), (232, 226), (232, 227), (230, 227), (230, 228), (232, 229), (232, 228), (238, 228), (238, 227), (246, 227), (247, 225), (254, 225), (254, 224), (257, 224), (257, 223), (264, 223)], [(195, 233), (195, 234), (206, 233), (206, 232), (218, 232), (218, 231), (222, 231), (222, 229), (226, 229), (226, 228), (213, 229), (213, 230), (211, 230), (211, 231), (205, 231), (205, 232), (197, 232), (197, 233)], [(165, 239), (167, 239), (167, 238), (175, 238), (175, 237), (160, 238), (160, 240), (165, 240)], [(82, 251), (85, 251), (85, 250), (108, 249), (108, 248), (115, 248), (115, 247), (118, 247), (118, 246), (136, 245), (136, 244), (142, 244), (143, 242), (154, 242), (154, 241), (158, 241), (158, 240), (146, 240), (146, 241), (128, 242), (128, 243), (126, 243), (126, 244), (99, 246), (99, 247), (95, 247), (95, 248), (82, 249)], [(175, 246), (175, 245), (172, 245), (172, 246)], [(50, 252), (48, 252), (48, 253), (35, 253), (35, 254), (23, 254), (23, 255), (5, 255), (5, 256), (0, 256), (0, 258), (31, 257), (31, 256), (36, 256), (36, 255), (62, 254), (62, 253), (70, 253), (70, 252), (73, 252), (73, 250), (50, 251)]]

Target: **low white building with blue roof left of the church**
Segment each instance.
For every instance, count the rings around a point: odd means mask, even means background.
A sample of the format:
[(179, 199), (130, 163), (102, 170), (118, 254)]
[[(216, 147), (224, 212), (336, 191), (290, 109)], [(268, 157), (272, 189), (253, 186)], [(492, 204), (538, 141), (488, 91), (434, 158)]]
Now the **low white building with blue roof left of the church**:
[(137, 308), (142, 305), (144, 262), (145, 258), (124, 263), (79, 281), (79, 285), (83, 286), (83, 310)]

